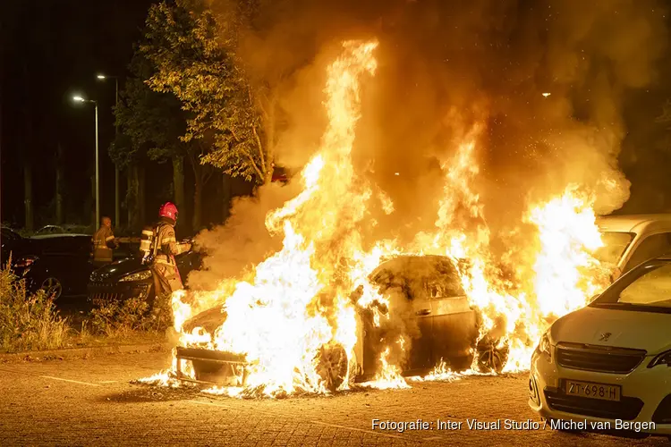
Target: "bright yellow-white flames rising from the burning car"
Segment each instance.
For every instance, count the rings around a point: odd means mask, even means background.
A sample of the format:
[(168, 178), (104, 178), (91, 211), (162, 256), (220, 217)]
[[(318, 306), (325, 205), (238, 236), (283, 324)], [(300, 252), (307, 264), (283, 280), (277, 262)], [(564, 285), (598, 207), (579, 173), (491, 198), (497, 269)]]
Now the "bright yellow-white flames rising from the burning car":
[[(515, 261), (521, 263), (517, 271), (525, 277), (511, 279), (502, 273), (506, 261), (492, 255), (485, 209), (474, 190), (482, 123), (465, 134), (453, 159), (442, 166), (444, 195), (435, 230), (417, 234), (404, 247), (395, 240), (379, 240), (373, 248), (362, 246), (361, 232), (375, 225), (367, 215), (369, 199), (378, 198), (386, 214), (394, 213), (391, 198), (357, 176), (351, 159), (361, 116), (361, 81), (376, 70), (377, 45), (345, 42), (342, 55), (328, 67), (324, 93), (329, 123), (319, 151), (302, 171), (302, 191), (266, 218), (268, 232), (284, 236), (283, 248), (256, 266), (246, 281), (224, 280), (216, 291), (191, 293), (190, 304), (183, 291), (174, 294), (174, 328), (183, 346), (240, 354), (249, 362), (244, 389), (209, 392), (239, 396), (253, 390), (276, 396), (332, 389), (319, 371), (325, 347), (340, 347), (351, 367), (361, 338), (356, 309), (368, 308), (378, 326), (394, 311), (368, 279), (386, 256), (435, 254), (454, 259), (463, 291), (481, 318), (478, 342), (505, 350), (504, 371), (529, 367), (531, 350), (548, 325), (584, 306), (588, 297), (607, 285), (607, 272), (591, 255), (602, 245), (594, 198), (582, 185), (569, 185), (556, 196), (529, 204), (520, 223), (536, 229), (528, 238), (533, 250)], [(226, 318), (214, 333), (202, 328), (183, 331), (189, 317), (215, 303), (223, 303)], [(401, 374), (403, 355), (396, 355), (407, 350), (406, 339), (385, 342), (386, 349), (378, 353), (378, 376), (367, 385), (407, 386)], [(473, 368), (478, 361), (476, 355)], [(456, 376), (441, 360), (429, 376), (415, 380)], [(347, 380), (338, 386), (346, 388)]]

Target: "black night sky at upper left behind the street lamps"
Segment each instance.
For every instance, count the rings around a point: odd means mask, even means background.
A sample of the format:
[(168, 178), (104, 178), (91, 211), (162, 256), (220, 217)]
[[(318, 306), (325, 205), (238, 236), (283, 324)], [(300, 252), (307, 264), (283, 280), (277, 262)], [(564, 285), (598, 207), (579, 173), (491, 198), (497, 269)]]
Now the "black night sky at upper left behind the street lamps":
[(149, 4), (145, 0), (2, 2), (3, 223), (23, 224), (21, 156), (33, 161), (35, 225), (49, 223), (40, 217), (53, 213), (40, 211), (46, 211), (54, 198), (59, 144), (64, 154), (65, 210), (70, 220), (82, 219), (82, 207), (91, 200), (94, 109), (72, 103), (74, 93), (98, 100), (101, 213), (114, 213), (114, 165), (107, 148), (115, 132), (111, 109), (115, 83), (99, 81), (96, 75), (126, 72)]

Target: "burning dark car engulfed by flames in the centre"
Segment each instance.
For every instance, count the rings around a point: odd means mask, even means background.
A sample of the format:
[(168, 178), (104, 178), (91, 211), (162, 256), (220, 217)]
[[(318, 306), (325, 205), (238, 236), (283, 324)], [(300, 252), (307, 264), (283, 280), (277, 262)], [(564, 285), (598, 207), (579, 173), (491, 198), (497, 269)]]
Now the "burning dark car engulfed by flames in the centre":
[[(417, 375), (446, 362), (454, 371), (476, 364), (480, 370), (500, 371), (508, 348), (492, 331), (480, 333), (480, 314), (471, 308), (463, 292), (454, 260), (440, 256), (399, 256), (382, 262), (369, 283), (378, 289), (379, 299), (357, 307), (357, 343), (352, 354), (337, 343), (322, 346), (316, 354), (315, 370), (327, 388), (337, 389), (344, 380), (364, 382), (378, 375), (380, 356), (395, 345), (396, 357), (403, 356), (403, 375)], [(357, 302), (361, 289), (352, 292)], [(391, 316), (387, 318), (386, 316)], [(210, 308), (183, 325), (183, 333), (200, 333), (199, 342), (176, 350), (176, 375), (227, 385), (245, 385), (247, 359), (243, 354), (212, 349), (217, 328), (226, 319), (225, 307)], [(395, 343), (403, 338), (400, 349)], [(191, 361), (192, 374), (182, 369)]]

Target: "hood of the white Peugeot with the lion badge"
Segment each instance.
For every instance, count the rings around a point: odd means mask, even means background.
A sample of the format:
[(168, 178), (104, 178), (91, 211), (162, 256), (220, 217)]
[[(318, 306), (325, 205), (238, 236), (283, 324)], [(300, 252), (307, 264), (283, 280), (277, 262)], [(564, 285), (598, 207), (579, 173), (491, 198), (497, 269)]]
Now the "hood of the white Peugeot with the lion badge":
[[(602, 334), (610, 333), (606, 341)], [(636, 310), (582, 308), (559, 318), (550, 341), (647, 350), (671, 349), (671, 314)]]

